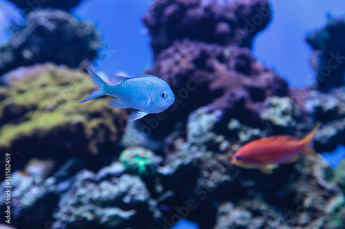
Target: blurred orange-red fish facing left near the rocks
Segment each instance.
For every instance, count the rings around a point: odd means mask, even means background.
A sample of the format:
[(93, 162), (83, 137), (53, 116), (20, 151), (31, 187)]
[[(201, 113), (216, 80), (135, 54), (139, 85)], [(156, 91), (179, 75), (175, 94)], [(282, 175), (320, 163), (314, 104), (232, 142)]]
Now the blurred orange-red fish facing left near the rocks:
[(257, 168), (270, 174), (279, 164), (299, 160), (299, 154), (302, 152), (319, 157), (313, 149), (313, 136), (318, 128), (319, 124), (302, 140), (290, 135), (274, 135), (253, 140), (242, 146), (233, 155), (231, 162), (242, 168)]

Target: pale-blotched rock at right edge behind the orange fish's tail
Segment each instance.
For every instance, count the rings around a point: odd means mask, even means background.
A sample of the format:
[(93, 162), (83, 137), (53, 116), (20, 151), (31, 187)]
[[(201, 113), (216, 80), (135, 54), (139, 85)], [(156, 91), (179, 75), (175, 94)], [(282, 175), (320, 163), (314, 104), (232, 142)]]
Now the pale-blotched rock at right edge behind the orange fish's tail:
[(303, 129), (305, 122), (320, 122), (322, 127), (315, 134), (315, 148), (334, 151), (345, 142), (345, 87), (329, 92), (315, 89), (292, 89), (291, 98), (300, 112), (297, 127)]

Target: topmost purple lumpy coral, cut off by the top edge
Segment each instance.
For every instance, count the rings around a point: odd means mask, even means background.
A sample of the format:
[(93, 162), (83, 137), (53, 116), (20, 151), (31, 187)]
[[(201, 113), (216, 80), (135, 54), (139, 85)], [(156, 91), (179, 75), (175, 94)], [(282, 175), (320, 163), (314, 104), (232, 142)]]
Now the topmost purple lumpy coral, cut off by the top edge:
[(267, 0), (155, 1), (143, 21), (155, 56), (179, 39), (251, 47), (270, 21), (270, 7)]

